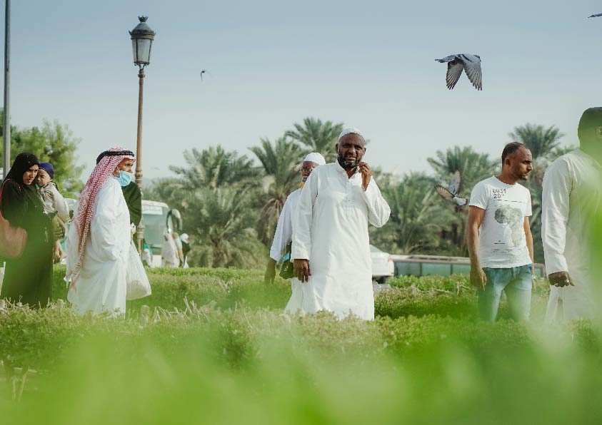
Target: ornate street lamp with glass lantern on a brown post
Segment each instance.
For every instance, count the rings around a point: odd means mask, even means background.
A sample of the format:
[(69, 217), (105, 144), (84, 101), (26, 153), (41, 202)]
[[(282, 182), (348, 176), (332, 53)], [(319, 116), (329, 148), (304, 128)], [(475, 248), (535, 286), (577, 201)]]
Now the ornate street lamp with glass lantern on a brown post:
[[(134, 65), (138, 71), (138, 135), (136, 139), (136, 184), (142, 190), (142, 89), (144, 86), (144, 67), (151, 63), (151, 46), (155, 38), (155, 31), (146, 24), (148, 16), (139, 16), (140, 23), (129, 31), (131, 47), (134, 53)], [(144, 237), (144, 220), (141, 220), (136, 232), (138, 250), (142, 253), (142, 239)]]

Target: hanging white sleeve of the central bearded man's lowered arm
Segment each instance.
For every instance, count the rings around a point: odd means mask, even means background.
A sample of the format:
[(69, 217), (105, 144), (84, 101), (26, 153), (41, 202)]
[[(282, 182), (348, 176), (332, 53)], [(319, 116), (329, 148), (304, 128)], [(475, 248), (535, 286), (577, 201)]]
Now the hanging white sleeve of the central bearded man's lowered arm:
[(299, 203), (297, 204), (295, 230), (293, 232), (293, 248), (291, 260), (309, 260), (311, 252), (311, 221), (313, 220), (313, 203), (318, 197), (318, 181), (315, 172), (307, 178)]

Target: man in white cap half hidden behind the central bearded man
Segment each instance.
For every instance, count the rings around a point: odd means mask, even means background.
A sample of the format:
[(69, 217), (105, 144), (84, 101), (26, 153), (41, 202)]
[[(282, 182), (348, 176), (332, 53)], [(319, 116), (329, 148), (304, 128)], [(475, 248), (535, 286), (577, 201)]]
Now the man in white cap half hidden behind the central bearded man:
[[(270, 248), (270, 259), (268, 260), (266, 274), (264, 276), (264, 281), (266, 283), (274, 282), (274, 277), (276, 277), (276, 263), (282, 260), (284, 248), (289, 244), (293, 236), (293, 218), (297, 211), (297, 203), (299, 203), (301, 189), (303, 188), (303, 185), (313, 169), (318, 165), (324, 164), (326, 164), (326, 160), (321, 153), (318, 152), (308, 153), (308, 155), (306, 155), (306, 157), (303, 159), (303, 163), (301, 163), (301, 184), (299, 185), (299, 189), (295, 190), (288, 197), (286, 197), (286, 201), (284, 201), (284, 206), (280, 212), (280, 217), (278, 217), (276, 232), (274, 232), (274, 240), (272, 241)], [(293, 286), (294, 291), (295, 282), (292, 282), (291, 285)]]

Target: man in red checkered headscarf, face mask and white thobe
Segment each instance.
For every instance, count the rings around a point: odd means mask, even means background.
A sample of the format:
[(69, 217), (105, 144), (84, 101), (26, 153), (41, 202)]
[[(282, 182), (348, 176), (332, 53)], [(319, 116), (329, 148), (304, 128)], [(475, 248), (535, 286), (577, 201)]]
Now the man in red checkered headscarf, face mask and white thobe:
[(79, 314), (126, 311), (129, 210), (121, 191), (131, 182), (134, 153), (101, 153), (76, 205), (67, 237), (68, 299)]

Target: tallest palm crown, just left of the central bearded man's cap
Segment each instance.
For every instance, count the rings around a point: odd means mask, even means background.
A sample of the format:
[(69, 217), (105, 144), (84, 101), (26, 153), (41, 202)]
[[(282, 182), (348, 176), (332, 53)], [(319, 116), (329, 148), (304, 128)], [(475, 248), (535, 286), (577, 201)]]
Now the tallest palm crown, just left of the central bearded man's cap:
[(300, 143), (306, 153), (319, 152), (326, 158), (326, 162), (336, 160), (334, 145), (343, 130), (343, 123), (323, 123), (318, 118), (309, 117), (303, 119), (303, 125), (295, 123), (294, 128), (285, 135)]

